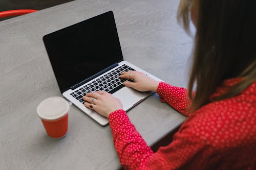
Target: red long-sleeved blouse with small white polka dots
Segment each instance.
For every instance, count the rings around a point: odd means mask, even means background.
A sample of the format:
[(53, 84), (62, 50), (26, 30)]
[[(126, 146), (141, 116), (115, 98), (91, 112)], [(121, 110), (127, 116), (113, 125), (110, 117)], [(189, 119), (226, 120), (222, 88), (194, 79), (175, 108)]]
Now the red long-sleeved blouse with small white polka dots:
[[(212, 97), (236, 82), (224, 81)], [(157, 93), (188, 117), (173, 142), (153, 153), (125, 111), (112, 112), (114, 145), (125, 169), (256, 169), (256, 82), (238, 96), (191, 114), (185, 88), (161, 82)]]

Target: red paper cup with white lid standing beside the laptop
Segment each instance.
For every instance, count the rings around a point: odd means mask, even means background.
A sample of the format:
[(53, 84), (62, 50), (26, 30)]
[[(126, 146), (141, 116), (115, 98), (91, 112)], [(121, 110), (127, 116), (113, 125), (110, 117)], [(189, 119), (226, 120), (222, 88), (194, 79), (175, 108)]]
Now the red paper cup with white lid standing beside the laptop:
[(62, 138), (68, 132), (69, 104), (58, 96), (42, 101), (37, 107), (46, 132), (53, 138)]

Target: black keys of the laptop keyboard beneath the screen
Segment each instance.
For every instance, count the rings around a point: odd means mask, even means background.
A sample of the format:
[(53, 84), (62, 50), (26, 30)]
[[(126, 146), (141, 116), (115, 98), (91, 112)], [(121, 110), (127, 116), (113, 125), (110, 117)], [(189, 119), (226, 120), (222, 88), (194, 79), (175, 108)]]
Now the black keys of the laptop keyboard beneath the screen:
[[(87, 85), (84, 85), (83, 87), (80, 87), (79, 89), (76, 89), (74, 92), (70, 93), (76, 100), (84, 103), (84, 100), (82, 99), (84, 95), (86, 95), (89, 92), (94, 91), (106, 91), (109, 93), (114, 93), (117, 90), (124, 87), (122, 84), (127, 79), (120, 79), (119, 76), (121, 75), (122, 71), (129, 71), (129, 70), (135, 70), (125, 64), (117, 67), (116, 69), (113, 69), (112, 71), (108, 72), (107, 74), (103, 74), (98, 79), (90, 82)], [(132, 81), (132, 80), (129, 80)]]

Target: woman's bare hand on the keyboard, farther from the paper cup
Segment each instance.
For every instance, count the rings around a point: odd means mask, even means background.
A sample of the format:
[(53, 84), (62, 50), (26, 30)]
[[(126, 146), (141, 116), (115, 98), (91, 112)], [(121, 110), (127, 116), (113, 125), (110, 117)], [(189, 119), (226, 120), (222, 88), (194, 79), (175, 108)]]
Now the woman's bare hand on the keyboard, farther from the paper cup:
[(121, 79), (132, 79), (134, 82), (125, 81), (123, 84), (127, 87), (132, 87), (138, 91), (157, 91), (159, 82), (147, 77), (144, 73), (139, 71), (122, 72)]

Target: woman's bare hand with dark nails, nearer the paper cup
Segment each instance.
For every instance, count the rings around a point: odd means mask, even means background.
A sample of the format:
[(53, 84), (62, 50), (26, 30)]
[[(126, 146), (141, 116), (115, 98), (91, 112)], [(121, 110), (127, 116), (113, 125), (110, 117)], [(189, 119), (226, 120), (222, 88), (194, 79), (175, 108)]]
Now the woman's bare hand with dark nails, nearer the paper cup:
[(83, 96), (83, 100), (86, 101), (84, 106), (95, 110), (107, 118), (113, 111), (123, 109), (120, 100), (105, 91), (87, 93), (86, 96)]

